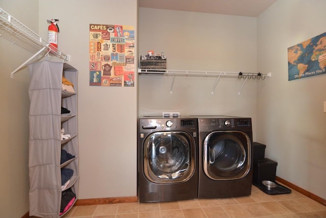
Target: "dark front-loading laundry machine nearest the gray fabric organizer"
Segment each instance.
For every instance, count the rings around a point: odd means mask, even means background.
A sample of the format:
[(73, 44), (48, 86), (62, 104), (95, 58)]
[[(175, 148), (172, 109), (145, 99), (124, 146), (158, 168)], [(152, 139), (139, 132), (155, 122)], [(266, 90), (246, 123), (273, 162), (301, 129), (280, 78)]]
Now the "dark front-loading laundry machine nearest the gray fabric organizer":
[(139, 119), (138, 196), (140, 202), (198, 197), (198, 119)]

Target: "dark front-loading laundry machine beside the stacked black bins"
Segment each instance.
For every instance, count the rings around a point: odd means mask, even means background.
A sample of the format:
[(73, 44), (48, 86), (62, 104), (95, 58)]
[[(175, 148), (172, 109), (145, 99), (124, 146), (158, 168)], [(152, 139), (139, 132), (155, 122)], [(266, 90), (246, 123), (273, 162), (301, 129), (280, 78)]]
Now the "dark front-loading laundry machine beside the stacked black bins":
[(251, 195), (251, 118), (199, 117), (198, 198)]

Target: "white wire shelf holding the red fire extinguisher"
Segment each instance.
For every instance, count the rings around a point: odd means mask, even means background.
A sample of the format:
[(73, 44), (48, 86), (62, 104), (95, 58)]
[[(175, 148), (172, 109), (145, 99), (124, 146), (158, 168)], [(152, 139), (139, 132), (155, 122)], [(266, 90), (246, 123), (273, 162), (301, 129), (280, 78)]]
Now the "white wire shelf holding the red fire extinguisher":
[[(30, 30), (27, 26), (13, 18), (10, 14), (0, 8), (0, 37), (4, 37), (14, 44), (35, 53), (29, 60), (25, 61), (16, 70), (11, 73), (11, 77), (14, 77), (14, 73), (21, 67), (30, 62), (38, 55), (51, 55), (63, 59), (64, 61), (70, 61), (70, 56), (65, 55), (59, 50), (50, 49), (50, 44), (42, 39), (35, 32)], [(46, 49), (47, 48), (47, 49)]]

